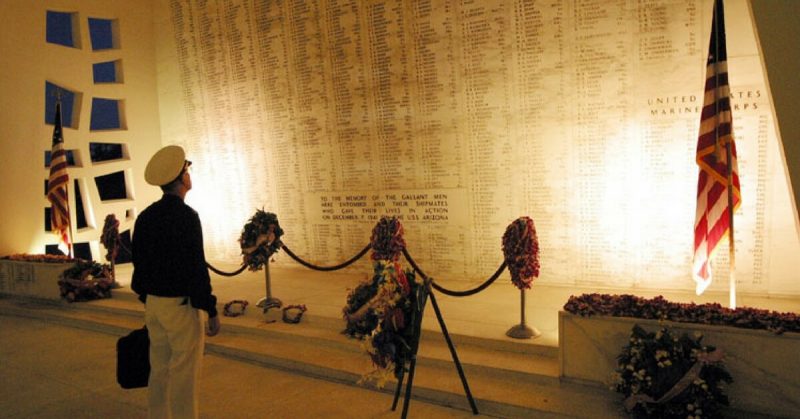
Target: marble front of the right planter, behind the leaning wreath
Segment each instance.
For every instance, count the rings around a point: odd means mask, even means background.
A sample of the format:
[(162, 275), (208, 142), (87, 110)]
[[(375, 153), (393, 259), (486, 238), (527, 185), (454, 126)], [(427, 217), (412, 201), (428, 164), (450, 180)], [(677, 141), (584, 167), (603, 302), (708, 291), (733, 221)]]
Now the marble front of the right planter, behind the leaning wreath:
[[(610, 383), (616, 358), (634, 324), (654, 331), (659, 322), (621, 317), (559, 313), (561, 376)], [(677, 333), (703, 334), (703, 343), (724, 351), (733, 376), (726, 394), (737, 409), (780, 417), (800, 417), (800, 334), (664, 322)]]

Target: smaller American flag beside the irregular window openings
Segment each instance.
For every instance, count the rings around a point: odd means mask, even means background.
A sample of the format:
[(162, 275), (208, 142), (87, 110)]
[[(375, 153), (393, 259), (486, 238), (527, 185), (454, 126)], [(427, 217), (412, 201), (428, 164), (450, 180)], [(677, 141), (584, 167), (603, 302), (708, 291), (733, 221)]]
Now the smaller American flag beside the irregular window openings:
[(50, 178), (47, 180), (47, 200), (50, 201), (50, 225), (69, 248), (69, 199), (67, 195), (67, 152), (61, 133), (61, 102), (56, 101), (53, 128), (53, 148), (50, 152)]

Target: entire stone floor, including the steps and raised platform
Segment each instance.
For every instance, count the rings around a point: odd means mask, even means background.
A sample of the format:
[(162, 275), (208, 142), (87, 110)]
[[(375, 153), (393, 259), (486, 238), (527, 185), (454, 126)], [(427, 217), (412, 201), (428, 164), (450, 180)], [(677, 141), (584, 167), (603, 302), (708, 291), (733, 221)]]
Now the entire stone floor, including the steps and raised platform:
[[(146, 415), (146, 392), (122, 390), (114, 381), (116, 339), (143, 322), (143, 307), (129, 289), (130, 269), (117, 267), (122, 288), (111, 299), (42, 304), (0, 298), (0, 417)], [(383, 390), (355, 384), (371, 365), (358, 343), (339, 333), (348, 289), (366, 275), (273, 267), (270, 278), (273, 297), (308, 307), (300, 324), (283, 323), (277, 311), (264, 315), (254, 307), (266, 293), (263, 272), (212, 276), (220, 308), (234, 299), (248, 300), (251, 306), (244, 316), (223, 317), (222, 332), (208, 340), (203, 417), (399, 417), (401, 407), (390, 410), (393, 383)], [(440, 285), (466, 289), (478, 284)], [(584, 292), (661, 294), (698, 303), (727, 298), (534, 285), (526, 293), (525, 315), (541, 336), (519, 340), (505, 336), (521, 316), (520, 292), (507, 274), (475, 296), (437, 293), (482, 416), (624, 416), (608, 389), (559, 379), (558, 311), (570, 295)], [(740, 296), (739, 305), (800, 312), (796, 299)], [(423, 329), (409, 417), (474, 417), (430, 305)]]

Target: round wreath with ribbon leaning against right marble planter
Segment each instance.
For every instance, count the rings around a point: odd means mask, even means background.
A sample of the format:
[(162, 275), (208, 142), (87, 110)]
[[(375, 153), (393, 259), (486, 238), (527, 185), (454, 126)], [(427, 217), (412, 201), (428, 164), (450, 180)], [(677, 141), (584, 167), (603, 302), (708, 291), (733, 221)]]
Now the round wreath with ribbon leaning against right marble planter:
[(724, 383), (733, 379), (722, 352), (702, 344), (702, 335), (674, 336), (662, 327), (650, 333), (635, 325), (617, 358), (614, 390), (637, 418), (718, 418), (727, 406)]

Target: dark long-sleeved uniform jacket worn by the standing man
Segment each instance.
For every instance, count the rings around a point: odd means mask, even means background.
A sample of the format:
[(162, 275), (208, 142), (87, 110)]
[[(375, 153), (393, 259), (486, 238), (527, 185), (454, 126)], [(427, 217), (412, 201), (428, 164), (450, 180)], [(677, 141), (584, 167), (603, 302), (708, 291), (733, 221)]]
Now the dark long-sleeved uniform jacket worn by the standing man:
[(217, 315), (217, 297), (203, 251), (200, 217), (171, 194), (147, 207), (136, 219), (132, 241), (131, 288), (145, 301), (148, 294), (188, 297), (192, 307)]

